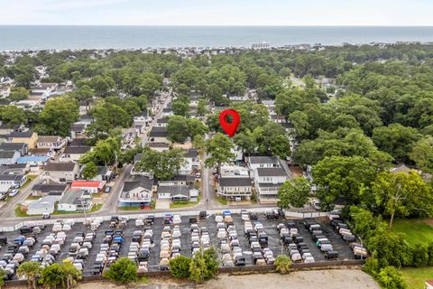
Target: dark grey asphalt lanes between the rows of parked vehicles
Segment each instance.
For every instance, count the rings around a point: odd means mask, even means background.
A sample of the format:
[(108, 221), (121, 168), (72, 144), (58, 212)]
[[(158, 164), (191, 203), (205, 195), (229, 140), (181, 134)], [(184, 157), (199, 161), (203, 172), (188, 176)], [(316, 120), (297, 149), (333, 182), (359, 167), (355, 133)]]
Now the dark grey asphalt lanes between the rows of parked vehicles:
[[(246, 266), (253, 265), (253, 256), (251, 254), (251, 247), (248, 243), (247, 238), (244, 235), (244, 220), (241, 219), (241, 216), (238, 214), (232, 214), (234, 225), (237, 232), (237, 238), (239, 240), (239, 245), (243, 249)], [(181, 217), (182, 222), (179, 225), (181, 236), (180, 236), (180, 244), (181, 244), (181, 255), (183, 256), (191, 256), (191, 247), (190, 247), (190, 224), (189, 217)], [(348, 247), (345, 241), (339, 237), (338, 233), (327, 223), (321, 220), (316, 219), (321, 227), (324, 230), (324, 235), (330, 240), (334, 249), (338, 251), (338, 259), (353, 259), (354, 255), (350, 247)], [(268, 235), (268, 247), (272, 250), (274, 256), (278, 256), (281, 254), (288, 255), (289, 252), (285, 247), (281, 245), (281, 240), (277, 232), (277, 225), (279, 223), (285, 223), (286, 220), (283, 219), (275, 219), (270, 220), (266, 219), (264, 214), (258, 214), (258, 221), (263, 224), (263, 228)], [(308, 229), (304, 228), (302, 224), (302, 219), (295, 220), (295, 224), (297, 228), (299, 228), (299, 234), (304, 238), (304, 242), (309, 247), (311, 254), (314, 256), (316, 261), (325, 261), (324, 254), (320, 252), (318, 247), (314, 244), (313, 239), (308, 231)], [(83, 270), (84, 275), (90, 275), (93, 264), (95, 263), (95, 259), (97, 253), (99, 253), (100, 245), (103, 243), (103, 239), (105, 238), (106, 231), (111, 230), (113, 228), (109, 228), (109, 221), (104, 221), (99, 228), (95, 230), (97, 234), (97, 238), (93, 242), (93, 247), (89, 250), (89, 256), (86, 261), (86, 265)], [(162, 218), (155, 219), (154, 224), (152, 225), (153, 229), (153, 244), (151, 249), (151, 256), (149, 259), (149, 267), (152, 271), (158, 271), (159, 262), (160, 262), (160, 252), (161, 252), (161, 232), (163, 228), (168, 225), (164, 225)], [(170, 225), (170, 228), (173, 228), (173, 225)], [(220, 241), (217, 238), (217, 222), (215, 221), (215, 215), (207, 216), (207, 219), (198, 220), (198, 227), (206, 227), (209, 232), (210, 245), (217, 248), (218, 252), (221, 248)], [(133, 233), (135, 230), (143, 230), (143, 227), (136, 227), (135, 220), (131, 219), (127, 223), (127, 225), (122, 228), (124, 232), (124, 243), (120, 250), (120, 256), (128, 256), (129, 247), (132, 242)], [(56, 256), (56, 262), (61, 262), (61, 260), (65, 259), (68, 256), (70, 244), (73, 241), (73, 238), (76, 237), (81, 232), (89, 232), (89, 228), (85, 228), (82, 223), (76, 223), (72, 226), (70, 231), (67, 231), (67, 240), (65, 244), (61, 247), (60, 253)], [(52, 233), (52, 225), (47, 226), (41, 234), (37, 235), (38, 243), (36, 243), (32, 248), (30, 248), (29, 254), (26, 256), (26, 260), (30, 260), (32, 255), (35, 254), (41, 247), (41, 241), (46, 236)], [(6, 236), (8, 238), (9, 243), (14, 242), (14, 238), (20, 236), (20, 233), (15, 232), (7, 232), (0, 233), (0, 236)], [(7, 250), (7, 246), (4, 246), (0, 249), (0, 255), (5, 254)], [(221, 252), (219, 252), (221, 256)]]

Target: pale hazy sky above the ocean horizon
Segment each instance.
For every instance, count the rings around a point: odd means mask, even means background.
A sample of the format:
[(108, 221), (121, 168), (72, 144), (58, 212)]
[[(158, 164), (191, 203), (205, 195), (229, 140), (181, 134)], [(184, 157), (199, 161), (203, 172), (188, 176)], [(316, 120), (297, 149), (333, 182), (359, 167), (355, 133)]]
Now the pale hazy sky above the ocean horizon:
[(0, 24), (433, 25), (431, 0), (0, 0)]

